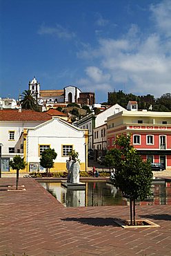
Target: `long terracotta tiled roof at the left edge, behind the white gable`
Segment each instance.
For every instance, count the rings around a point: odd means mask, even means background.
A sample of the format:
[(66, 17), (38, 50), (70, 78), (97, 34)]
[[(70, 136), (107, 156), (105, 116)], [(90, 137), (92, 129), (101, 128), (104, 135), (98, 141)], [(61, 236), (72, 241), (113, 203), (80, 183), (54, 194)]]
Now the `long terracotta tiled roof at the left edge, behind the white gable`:
[(0, 121), (48, 121), (52, 119), (48, 113), (22, 109), (0, 110)]

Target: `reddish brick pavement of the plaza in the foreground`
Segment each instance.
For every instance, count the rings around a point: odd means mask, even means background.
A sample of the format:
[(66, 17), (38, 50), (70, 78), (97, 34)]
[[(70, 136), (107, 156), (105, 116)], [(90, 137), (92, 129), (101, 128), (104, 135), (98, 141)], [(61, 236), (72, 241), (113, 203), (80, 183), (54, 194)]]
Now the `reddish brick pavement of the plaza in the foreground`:
[(6, 191), (0, 179), (0, 256), (171, 255), (170, 205), (137, 206), (137, 218), (160, 228), (123, 229), (128, 206), (65, 208), (34, 179), (19, 179), (26, 191)]

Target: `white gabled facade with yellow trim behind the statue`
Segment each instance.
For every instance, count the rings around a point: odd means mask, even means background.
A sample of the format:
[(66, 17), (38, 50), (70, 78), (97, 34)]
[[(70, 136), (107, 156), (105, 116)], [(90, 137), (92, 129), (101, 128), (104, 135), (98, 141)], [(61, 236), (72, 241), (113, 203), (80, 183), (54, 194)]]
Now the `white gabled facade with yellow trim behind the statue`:
[(27, 130), (26, 161), (29, 165), (39, 164), (40, 148), (46, 145), (57, 152), (53, 170), (66, 170), (68, 155), (63, 154), (63, 149), (66, 146), (70, 146), (79, 152), (81, 170), (85, 170), (85, 142), (85, 130), (78, 129), (59, 118), (53, 118), (37, 127)]

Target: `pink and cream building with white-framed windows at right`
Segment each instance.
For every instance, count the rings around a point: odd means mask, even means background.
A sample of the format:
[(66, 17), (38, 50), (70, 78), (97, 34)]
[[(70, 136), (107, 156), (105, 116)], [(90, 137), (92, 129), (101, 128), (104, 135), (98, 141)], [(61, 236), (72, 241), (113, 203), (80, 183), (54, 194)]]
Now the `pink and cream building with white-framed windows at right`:
[(144, 160), (149, 158), (152, 163), (163, 163), (166, 170), (171, 170), (171, 112), (133, 109), (107, 119), (108, 149), (114, 147), (116, 136), (131, 134), (132, 145)]

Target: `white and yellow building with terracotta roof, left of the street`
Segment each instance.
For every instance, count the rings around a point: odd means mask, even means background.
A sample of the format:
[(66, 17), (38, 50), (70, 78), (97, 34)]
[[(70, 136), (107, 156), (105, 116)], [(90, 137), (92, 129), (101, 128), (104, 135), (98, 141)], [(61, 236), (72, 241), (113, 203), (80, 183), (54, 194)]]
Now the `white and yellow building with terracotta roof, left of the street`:
[[(47, 122), (50, 120), (53, 122)], [(57, 125), (55, 126), (54, 123)], [(39, 126), (42, 124), (43, 126)], [(37, 131), (39, 132), (37, 133)], [(3, 134), (0, 140), (3, 145), (1, 147), (2, 172), (12, 172), (9, 163), (16, 155), (26, 159), (27, 171), (32, 170), (32, 167), (35, 166), (39, 170), (40, 152), (48, 145), (57, 150), (57, 163), (54, 166), (57, 169), (54, 168), (55, 170), (65, 167), (68, 149), (71, 148), (79, 152), (81, 170), (85, 170), (85, 163), (87, 163), (84, 145), (87, 142), (86, 133), (87, 131), (78, 129), (64, 120), (52, 119), (48, 113), (21, 111), (21, 109), (0, 110), (0, 134)], [(64, 156), (64, 150), (66, 150), (66, 156)], [(34, 165), (30, 165), (30, 163)]]

